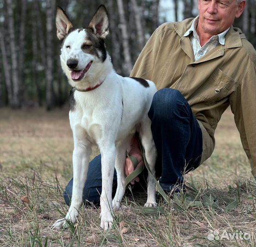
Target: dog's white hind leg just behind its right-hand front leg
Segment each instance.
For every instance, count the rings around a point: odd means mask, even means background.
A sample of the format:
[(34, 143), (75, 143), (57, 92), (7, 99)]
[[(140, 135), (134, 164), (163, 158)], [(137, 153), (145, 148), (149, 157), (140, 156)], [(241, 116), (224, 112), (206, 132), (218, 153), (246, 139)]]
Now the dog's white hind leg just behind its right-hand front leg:
[(125, 140), (117, 145), (117, 155), (115, 161), (115, 168), (117, 171), (117, 192), (112, 202), (113, 209), (120, 208), (122, 197), (125, 193), (125, 174), (124, 174), (124, 163), (126, 158), (126, 150), (130, 144), (132, 135), (129, 135)]

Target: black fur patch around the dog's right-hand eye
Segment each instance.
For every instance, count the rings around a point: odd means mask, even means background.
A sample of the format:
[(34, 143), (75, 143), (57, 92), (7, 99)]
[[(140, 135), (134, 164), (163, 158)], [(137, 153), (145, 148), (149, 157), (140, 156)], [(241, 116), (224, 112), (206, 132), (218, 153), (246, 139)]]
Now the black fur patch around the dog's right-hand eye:
[(97, 56), (103, 63), (106, 60), (106, 46), (103, 38), (100, 38), (98, 34), (95, 34), (92, 29), (85, 29), (87, 34), (87, 40), (89, 40), (92, 45), (89, 48), (82, 48), (83, 52)]

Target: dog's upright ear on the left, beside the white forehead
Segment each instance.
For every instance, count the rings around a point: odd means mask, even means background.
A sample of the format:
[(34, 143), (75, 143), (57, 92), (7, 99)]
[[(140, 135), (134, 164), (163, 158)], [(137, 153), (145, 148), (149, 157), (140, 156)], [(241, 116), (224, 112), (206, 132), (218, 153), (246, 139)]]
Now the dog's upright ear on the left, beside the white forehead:
[(61, 9), (61, 7), (57, 7), (56, 9), (56, 27), (57, 27), (57, 37), (59, 40), (65, 38), (73, 27), (71, 21), (69, 21), (66, 13)]

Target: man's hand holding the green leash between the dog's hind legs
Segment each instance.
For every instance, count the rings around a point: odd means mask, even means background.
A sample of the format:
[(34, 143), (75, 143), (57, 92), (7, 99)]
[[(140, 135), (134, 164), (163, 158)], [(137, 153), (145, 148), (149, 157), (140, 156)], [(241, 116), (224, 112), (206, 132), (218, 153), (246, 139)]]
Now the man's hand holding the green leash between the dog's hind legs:
[[(139, 140), (136, 135), (134, 135), (134, 138), (131, 141), (130, 148), (127, 150), (128, 154), (130, 156), (134, 156), (138, 161), (138, 165), (136, 166), (135, 169), (137, 169), (140, 166), (143, 166), (144, 161), (143, 161), (143, 156), (139, 147)], [(134, 165), (132, 161), (127, 157), (125, 159), (125, 165), (124, 165), (124, 172), (125, 175), (128, 176), (134, 171)], [(139, 182), (139, 177), (135, 177), (132, 181), (131, 184), (134, 184), (135, 182)]]

